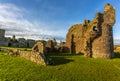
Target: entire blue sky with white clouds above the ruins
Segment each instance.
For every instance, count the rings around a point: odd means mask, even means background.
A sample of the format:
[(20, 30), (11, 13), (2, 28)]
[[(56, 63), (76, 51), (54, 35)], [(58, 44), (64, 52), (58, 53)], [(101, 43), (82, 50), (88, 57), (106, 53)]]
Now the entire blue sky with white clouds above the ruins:
[(0, 0), (0, 28), (6, 36), (65, 40), (73, 24), (92, 20), (106, 3), (116, 9), (114, 40), (120, 40), (120, 0)]

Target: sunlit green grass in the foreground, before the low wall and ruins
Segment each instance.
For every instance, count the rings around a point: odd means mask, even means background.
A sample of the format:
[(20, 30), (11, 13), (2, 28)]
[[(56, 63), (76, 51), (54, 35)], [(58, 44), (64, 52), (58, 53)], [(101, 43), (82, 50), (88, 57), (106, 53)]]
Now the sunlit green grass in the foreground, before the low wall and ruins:
[(0, 81), (120, 81), (120, 54), (113, 59), (52, 55), (55, 65), (37, 65), (0, 52)]

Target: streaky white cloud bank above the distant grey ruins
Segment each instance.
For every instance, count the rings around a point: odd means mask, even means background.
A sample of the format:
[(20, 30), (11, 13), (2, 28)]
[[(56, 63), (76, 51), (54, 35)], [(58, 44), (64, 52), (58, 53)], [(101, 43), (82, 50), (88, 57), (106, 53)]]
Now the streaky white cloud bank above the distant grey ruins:
[[(0, 4), (0, 28), (6, 30), (6, 36), (16, 35), (32, 39), (62, 38), (64, 30), (52, 30), (53, 25), (41, 21), (29, 21), (25, 18), (27, 10), (13, 4)], [(54, 24), (57, 26), (57, 24)], [(48, 28), (48, 29), (47, 29)], [(63, 35), (65, 36), (65, 35)]]

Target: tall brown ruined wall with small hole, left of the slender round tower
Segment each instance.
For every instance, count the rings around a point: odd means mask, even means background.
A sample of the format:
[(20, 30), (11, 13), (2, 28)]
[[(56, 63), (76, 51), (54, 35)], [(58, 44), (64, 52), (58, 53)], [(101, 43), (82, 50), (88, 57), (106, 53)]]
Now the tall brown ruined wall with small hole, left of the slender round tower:
[(90, 54), (92, 48), (91, 42), (101, 35), (101, 17), (102, 14), (97, 13), (94, 21), (85, 20), (84, 24), (73, 25), (69, 29), (66, 45), (70, 53), (84, 53), (86, 56)]

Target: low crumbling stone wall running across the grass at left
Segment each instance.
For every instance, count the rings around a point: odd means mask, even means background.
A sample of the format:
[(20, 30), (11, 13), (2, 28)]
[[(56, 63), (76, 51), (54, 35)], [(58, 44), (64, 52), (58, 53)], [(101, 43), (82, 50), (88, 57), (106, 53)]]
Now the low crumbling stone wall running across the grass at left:
[(17, 49), (9, 49), (9, 48), (0, 48), (0, 51), (6, 52), (11, 56), (20, 56), (37, 64), (42, 64), (42, 65), (50, 64), (49, 59), (47, 59), (45, 55), (41, 54), (40, 52), (21, 51)]

